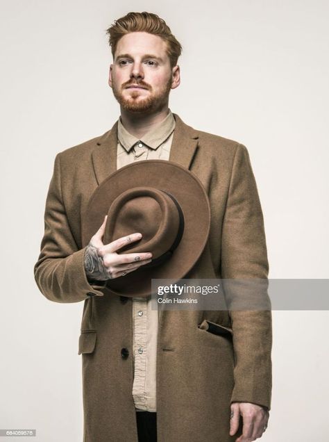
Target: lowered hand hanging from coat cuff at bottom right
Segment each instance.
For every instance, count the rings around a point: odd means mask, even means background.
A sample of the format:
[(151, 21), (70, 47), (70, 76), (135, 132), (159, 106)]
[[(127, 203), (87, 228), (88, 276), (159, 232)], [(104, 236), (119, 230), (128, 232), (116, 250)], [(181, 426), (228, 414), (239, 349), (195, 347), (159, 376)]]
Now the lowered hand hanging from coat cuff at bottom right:
[(243, 419), (242, 435), (235, 442), (251, 442), (262, 437), (269, 420), (269, 411), (265, 407), (249, 402), (233, 402), (230, 411), (230, 436), (237, 432), (240, 415)]

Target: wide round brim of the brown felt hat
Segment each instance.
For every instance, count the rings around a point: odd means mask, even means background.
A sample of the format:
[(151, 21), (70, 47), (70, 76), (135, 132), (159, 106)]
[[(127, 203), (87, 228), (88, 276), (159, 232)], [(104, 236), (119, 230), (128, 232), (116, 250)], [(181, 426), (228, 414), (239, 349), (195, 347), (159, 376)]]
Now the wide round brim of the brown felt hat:
[(124, 277), (109, 279), (106, 288), (116, 295), (145, 297), (151, 295), (151, 279), (178, 281), (185, 277), (201, 256), (209, 236), (209, 199), (196, 175), (178, 163), (145, 160), (121, 167), (94, 190), (81, 220), (83, 247), (103, 224), (115, 198), (139, 186), (155, 187), (174, 195), (184, 214), (184, 233), (174, 254), (165, 263), (154, 268), (142, 265)]

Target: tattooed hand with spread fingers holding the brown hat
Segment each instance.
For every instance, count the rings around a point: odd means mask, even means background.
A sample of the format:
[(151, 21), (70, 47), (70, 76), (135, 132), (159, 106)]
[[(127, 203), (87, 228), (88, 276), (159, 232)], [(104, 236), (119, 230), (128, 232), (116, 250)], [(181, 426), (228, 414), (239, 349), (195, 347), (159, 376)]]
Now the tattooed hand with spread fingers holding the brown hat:
[(85, 249), (85, 272), (87, 277), (97, 281), (105, 281), (106, 279), (114, 279), (133, 272), (141, 265), (152, 261), (151, 253), (127, 253), (117, 254), (117, 250), (124, 245), (140, 240), (142, 234), (131, 234), (119, 238), (112, 243), (103, 244), (103, 236), (106, 227), (106, 220), (92, 236), (90, 243)]

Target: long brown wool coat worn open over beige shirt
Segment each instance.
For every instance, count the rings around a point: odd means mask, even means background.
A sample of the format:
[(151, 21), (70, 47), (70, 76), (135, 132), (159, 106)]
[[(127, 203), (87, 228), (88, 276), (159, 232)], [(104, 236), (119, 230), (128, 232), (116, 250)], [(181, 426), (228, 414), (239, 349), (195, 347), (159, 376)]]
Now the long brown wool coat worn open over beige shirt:
[[(246, 147), (196, 131), (174, 116), (169, 160), (199, 177), (212, 216), (208, 244), (187, 276), (266, 279), (262, 209)], [(78, 347), (83, 363), (84, 442), (137, 442), (132, 301), (88, 283), (81, 248), (81, 215), (94, 189), (116, 170), (116, 155), (117, 122), (103, 136), (56, 156), (34, 268), (37, 286), (47, 299), (84, 301)], [(219, 330), (228, 327), (233, 339), (200, 329), (205, 319)], [(158, 442), (235, 441), (241, 427), (229, 436), (231, 402), (270, 408), (271, 343), (270, 311), (162, 311)], [(128, 355), (121, 354), (124, 348)]]

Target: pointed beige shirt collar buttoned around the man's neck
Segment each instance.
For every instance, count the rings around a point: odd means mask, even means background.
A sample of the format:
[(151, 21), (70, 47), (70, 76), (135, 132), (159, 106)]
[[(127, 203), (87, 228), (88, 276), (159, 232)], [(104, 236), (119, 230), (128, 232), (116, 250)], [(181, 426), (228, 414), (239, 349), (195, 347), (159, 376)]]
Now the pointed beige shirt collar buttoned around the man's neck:
[(168, 109), (167, 117), (160, 123), (156, 124), (151, 131), (145, 133), (142, 138), (138, 139), (131, 135), (121, 122), (121, 117), (118, 120), (118, 139), (120, 144), (126, 149), (127, 152), (132, 149), (137, 142), (142, 142), (144, 145), (151, 147), (151, 149), (158, 149), (162, 142), (167, 140), (175, 129), (175, 118), (171, 110)]

